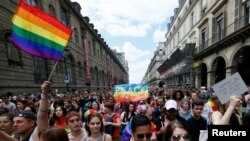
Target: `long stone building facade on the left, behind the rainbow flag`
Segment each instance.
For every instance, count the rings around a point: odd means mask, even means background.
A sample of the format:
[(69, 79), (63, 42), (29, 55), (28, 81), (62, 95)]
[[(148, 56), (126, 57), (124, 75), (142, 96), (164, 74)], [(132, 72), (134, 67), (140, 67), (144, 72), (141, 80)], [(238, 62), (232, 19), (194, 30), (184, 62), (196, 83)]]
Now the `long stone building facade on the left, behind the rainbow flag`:
[[(11, 19), (19, 0), (0, 1), (0, 94), (36, 93), (47, 80), (54, 61), (31, 56), (12, 44)], [(128, 83), (124, 69), (107, 43), (81, 15), (81, 7), (70, 0), (26, 0), (71, 27), (72, 36), (60, 62), (57, 63), (51, 82), (54, 90), (110, 89), (115, 84)]]

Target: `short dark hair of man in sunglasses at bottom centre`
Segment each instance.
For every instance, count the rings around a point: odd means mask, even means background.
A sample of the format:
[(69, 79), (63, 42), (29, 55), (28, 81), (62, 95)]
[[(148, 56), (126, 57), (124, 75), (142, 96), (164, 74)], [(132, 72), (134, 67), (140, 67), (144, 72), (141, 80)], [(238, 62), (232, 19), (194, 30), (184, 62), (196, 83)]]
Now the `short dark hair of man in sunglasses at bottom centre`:
[(136, 128), (139, 126), (149, 125), (151, 128), (151, 121), (145, 115), (135, 115), (131, 121), (132, 132), (135, 132)]

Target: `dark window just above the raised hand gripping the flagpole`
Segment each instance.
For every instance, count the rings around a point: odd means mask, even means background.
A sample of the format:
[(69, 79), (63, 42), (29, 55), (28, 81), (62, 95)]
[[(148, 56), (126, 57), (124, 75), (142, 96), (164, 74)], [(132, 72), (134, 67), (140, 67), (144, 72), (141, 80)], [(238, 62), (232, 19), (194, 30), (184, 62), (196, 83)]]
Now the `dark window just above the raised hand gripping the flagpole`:
[(42, 84), (47, 80), (47, 65), (43, 58), (33, 56), (33, 67), (35, 75), (35, 83)]

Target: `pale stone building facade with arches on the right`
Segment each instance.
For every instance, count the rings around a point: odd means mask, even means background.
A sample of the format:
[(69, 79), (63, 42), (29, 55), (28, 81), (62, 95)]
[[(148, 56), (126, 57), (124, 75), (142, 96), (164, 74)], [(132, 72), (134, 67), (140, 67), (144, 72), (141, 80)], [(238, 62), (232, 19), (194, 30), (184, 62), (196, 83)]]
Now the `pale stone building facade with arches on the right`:
[(249, 7), (249, 0), (179, 0), (165, 35), (167, 58), (158, 69), (166, 85), (211, 87), (235, 72), (250, 85)]

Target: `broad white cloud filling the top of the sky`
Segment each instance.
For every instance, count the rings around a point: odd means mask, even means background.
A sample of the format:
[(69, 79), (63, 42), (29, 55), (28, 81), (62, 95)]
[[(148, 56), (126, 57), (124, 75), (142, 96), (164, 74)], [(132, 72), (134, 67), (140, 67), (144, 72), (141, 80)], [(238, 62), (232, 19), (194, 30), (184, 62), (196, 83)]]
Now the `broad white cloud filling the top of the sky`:
[[(145, 37), (153, 26), (173, 15), (177, 0), (73, 0), (95, 28), (111, 36)], [(171, 3), (171, 4), (170, 4)]]

